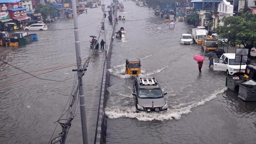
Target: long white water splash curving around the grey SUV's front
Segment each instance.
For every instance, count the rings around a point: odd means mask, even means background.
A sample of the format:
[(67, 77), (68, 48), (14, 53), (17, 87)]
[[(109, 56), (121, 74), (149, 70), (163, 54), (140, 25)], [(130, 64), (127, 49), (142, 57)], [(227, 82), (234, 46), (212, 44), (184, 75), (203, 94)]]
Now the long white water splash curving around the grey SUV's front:
[[(213, 94), (205, 96), (205, 98), (198, 101), (191, 101), (189, 103), (181, 103), (177, 106), (168, 106), (167, 112), (160, 113), (136, 113), (136, 109), (133, 101), (130, 101), (129, 106), (121, 105), (113, 105), (112, 107), (105, 108), (105, 114), (113, 119), (113, 118), (121, 118), (121, 117), (129, 117), (129, 118), (137, 118), (139, 121), (164, 121), (168, 119), (180, 119), (183, 114), (188, 114), (191, 112), (193, 108), (204, 105), (205, 102), (208, 102), (214, 99), (218, 94), (224, 93), (227, 90), (224, 89), (216, 90)], [(131, 98), (128, 96), (127, 98)], [(126, 100), (127, 101), (127, 100)], [(120, 102), (120, 101), (119, 101)]]

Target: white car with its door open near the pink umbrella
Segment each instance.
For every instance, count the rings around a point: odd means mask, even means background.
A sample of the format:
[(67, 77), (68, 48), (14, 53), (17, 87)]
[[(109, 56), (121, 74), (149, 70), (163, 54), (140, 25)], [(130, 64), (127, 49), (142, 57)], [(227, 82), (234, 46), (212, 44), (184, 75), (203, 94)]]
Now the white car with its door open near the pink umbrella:
[[(213, 59), (213, 70), (226, 71), (227, 75), (234, 75), (239, 73), (240, 62), (235, 62), (235, 53), (223, 53), (221, 58)], [(246, 64), (242, 63), (241, 73), (245, 72)]]

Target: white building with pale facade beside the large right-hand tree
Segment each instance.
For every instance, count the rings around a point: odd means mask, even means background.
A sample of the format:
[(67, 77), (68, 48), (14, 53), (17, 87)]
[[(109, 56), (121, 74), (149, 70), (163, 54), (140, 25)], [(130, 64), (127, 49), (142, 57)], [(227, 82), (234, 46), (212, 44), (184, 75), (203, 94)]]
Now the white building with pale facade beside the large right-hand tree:
[[(227, 2), (226, 0), (223, 0), (221, 3), (218, 5), (218, 15), (219, 19), (221, 20), (223, 17), (229, 17), (233, 16), (233, 5), (230, 4), (230, 2)], [(219, 22), (220, 26), (223, 26), (224, 23), (221, 21)]]

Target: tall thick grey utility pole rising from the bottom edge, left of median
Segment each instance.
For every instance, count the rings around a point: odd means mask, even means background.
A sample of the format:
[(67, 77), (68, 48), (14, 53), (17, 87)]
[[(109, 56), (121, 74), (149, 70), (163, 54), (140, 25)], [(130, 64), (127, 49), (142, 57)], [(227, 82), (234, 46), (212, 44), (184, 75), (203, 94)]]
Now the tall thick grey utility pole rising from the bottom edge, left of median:
[(77, 75), (78, 75), (78, 81), (81, 82), (80, 87), (79, 87), (79, 100), (80, 100), (80, 114), (81, 114), (83, 144), (88, 144), (85, 102), (84, 102), (84, 87), (83, 87), (83, 81), (82, 81), (83, 70), (82, 70), (82, 65), (81, 65), (82, 61), (81, 61), (81, 52), (80, 52), (80, 42), (79, 42), (75, 0), (72, 0), (72, 9), (73, 9), (74, 33), (75, 33), (75, 54), (76, 54), (76, 64), (77, 64)]

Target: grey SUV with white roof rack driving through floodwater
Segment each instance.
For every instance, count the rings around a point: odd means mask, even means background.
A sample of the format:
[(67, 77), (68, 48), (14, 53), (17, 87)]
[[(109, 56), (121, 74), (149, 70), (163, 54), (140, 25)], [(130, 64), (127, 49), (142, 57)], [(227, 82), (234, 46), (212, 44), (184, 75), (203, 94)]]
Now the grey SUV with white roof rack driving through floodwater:
[(137, 77), (133, 82), (132, 95), (136, 112), (167, 111), (167, 103), (155, 78)]

